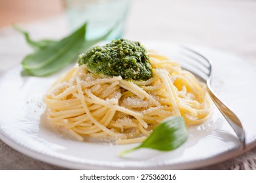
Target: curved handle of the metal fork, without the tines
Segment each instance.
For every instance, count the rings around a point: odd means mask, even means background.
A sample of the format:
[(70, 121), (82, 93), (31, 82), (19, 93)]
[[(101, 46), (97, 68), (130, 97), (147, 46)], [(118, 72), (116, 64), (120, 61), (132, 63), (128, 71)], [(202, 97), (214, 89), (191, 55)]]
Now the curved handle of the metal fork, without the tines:
[(213, 90), (210, 88), (209, 83), (207, 84), (207, 86), (208, 86), (207, 87), (208, 93), (211, 99), (213, 100), (213, 102), (215, 103), (215, 105), (217, 106), (221, 114), (223, 114), (227, 122), (229, 122), (232, 129), (234, 129), (234, 132), (238, 136), (239, 141), (242, 143), (242, 148), (245, 149), (246, 135), (245, 135), (242, 123), (240, 122), (238, 116), (236, 116), (236, 114), (234, 114), (234, 112), (232, 112), (232, 110), (230, 110), (230, 108), (227, 107), (227, 105), (225, 105), (218, 97), (216, 97), (216, 95), (213, 93)]

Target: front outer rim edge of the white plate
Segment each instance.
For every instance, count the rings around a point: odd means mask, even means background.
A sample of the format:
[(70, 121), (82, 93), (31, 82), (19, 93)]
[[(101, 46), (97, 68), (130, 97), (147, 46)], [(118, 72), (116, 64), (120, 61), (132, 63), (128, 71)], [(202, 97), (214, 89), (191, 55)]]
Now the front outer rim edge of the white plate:
[[(14, 150), (17, 150), (18, 152), (25, 154), (26, 156), (35, 158), (39, 161), (49, 163), (51, 165), (56, 165), (56, 166), (65, 167), (65, 168), (69, 168), (69, 169), (117, 169), (117, 168), (119, 168), (119, 169), (131, 169), (131, 168), (145, 169), (143, 167), (121, 167), (121, 166), (119, 167), (117, 165), (115, 165), (115, 166), (112, 166), (112, 165), (90, 165), (89, 163), (88, 164), (76, 163), (76, 162), (56, 158), (53, 156), (49, 156), (46, 154), (42, 154), (35, 150), (26, 148), (25, 146), (22, 146), (22, 145), (18, 144), (17, 142), (12, 141), (10, 138), (5, 137), (5, 135), (3, 135), (3, 133), (1, 133), (1, 131), (0, 131), (0, 139), (1, 139), (1, 141), (5, 142), (7, 145), (9, 145), (11, 148), (14, 148)], [(200, 163), (196, 163), (198, 161), (193, 160), (193, 161), (185, 161), (183, 163), (174, 163), (172, 165), (156, 165), (156, 166), (151, 166), (151, 167), (147, 166), (147, 169), (154, 169), (154, 168), (173, 169), (174, 166), (175, 166), (175, 169), (198, 169), (200, 167), (212, 165), (213, 161), (214, 161), (214, 163), (220, 163), (221, 161), (225, 161), (225, 160), (234, 158), (236, 156), (239, 156), (240, 154), (243, 154), (244, 152), (251, 150), (255, 146), (256, 146), (256, 141), (248, 143), (245, 150), (243, 150), (240, 147), (233, 148), (226, 152), (222, 152), (221, 154), (211, 156), (210, 158), (201, 159)], [(226, 158), (226, 156), (229, 158)], [(54, 160), (54, 161), (52, 161), (52, 160)], [(194, 163), (196, 163), (196, 165), (194, 165)], [(79, 167), (78, 167), (78, 165), (79, 165)]]

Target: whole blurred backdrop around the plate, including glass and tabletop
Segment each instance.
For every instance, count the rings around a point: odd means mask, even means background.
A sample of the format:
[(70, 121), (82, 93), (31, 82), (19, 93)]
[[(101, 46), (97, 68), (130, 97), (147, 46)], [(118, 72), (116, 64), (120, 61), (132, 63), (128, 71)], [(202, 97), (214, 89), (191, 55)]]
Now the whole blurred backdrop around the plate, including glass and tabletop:
[[(31, 52), (12, 24), (26, 29), (33, 39), (59, 39), (84, 21), (90, 23), (89, 38), (118, 24), (111, 39), (199, 44), (256, 65), (255, 0), (0, 0), (0, 74)], [(255, 153), (256, 149), (215, 168), (230, 169), (248, 157), (255, 159)], [(0, 162), (0, 169), (56, 169), (2, 141)]]

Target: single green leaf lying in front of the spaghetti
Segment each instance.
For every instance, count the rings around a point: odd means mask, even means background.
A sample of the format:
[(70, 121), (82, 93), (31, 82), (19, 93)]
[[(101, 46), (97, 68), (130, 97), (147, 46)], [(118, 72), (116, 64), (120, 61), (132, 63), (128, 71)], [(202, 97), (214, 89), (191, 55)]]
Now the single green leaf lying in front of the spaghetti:
[(153, 148), (161, 151), (174, 150), (187, 141), (188, 137), (189, 133), (183, 118), (171, 116), (158, 124), (151, 135), (139, 146), (121, 152), (119, 155), (122, 156), (139, 148)]

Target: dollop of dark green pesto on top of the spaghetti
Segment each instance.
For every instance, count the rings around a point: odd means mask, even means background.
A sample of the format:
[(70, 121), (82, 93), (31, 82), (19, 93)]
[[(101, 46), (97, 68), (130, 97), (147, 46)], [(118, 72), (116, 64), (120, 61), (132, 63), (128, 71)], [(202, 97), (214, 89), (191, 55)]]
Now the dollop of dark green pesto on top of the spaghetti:
[(79, 65), (94, 74), (122, 76), (123, 79), (148, 80), (152, 77), (147, 50), (140, 42), (117, 39), (104, 46), (95, 46), (79, 56)]

